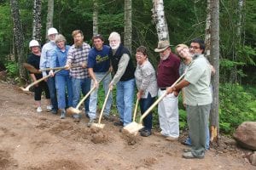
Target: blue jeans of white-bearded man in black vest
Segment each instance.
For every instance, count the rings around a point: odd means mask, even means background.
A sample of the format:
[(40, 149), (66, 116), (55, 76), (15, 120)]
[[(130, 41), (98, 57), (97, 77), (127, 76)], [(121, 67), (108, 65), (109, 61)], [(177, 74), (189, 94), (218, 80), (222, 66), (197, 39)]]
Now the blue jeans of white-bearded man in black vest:
[(116, 104), (119, 111), (120, 121), (124, 122), (124, 126), (131, 122), (134, 86), (134, 78), (128, 81), (119, 81), (117, 83)]

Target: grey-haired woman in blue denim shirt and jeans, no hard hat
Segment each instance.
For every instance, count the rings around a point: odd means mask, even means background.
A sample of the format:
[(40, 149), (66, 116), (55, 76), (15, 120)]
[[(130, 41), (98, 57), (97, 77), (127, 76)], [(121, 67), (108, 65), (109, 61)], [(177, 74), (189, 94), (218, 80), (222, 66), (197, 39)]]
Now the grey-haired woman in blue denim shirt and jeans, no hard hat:
[[(67, 51), (70, 46), (66, 45), (66, 38), (61, 34), (55, 37), (56, 48), (53, 50), (50, 68), (65, 66), (67, 62)], [(49, 74), (54, 76), (54, 72)], [(55, 87), (57, 91), (58, 108), (61, 110), (61, 119), (66, 117), (66, 108), (72, 106), (73, 89), (69, 71), (63, 70), (55, 75)], [(66, 95), (67, 89), (67, 95)], [(66, 101), (67, 96), (67, 101)]]

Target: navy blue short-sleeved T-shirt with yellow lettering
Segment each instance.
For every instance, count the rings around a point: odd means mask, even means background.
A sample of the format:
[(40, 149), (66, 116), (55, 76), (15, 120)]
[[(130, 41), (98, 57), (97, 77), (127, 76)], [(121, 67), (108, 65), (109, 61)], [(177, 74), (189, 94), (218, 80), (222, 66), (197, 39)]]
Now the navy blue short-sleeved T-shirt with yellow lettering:
[(91, 48), (88, 55), (88, 68), (93, 68), (94, 72), (106, 72), (109, 70), (110, 57), (109, 57), (110, 47), (103, 45), (102, 50), (97, 50), (96, 48)]

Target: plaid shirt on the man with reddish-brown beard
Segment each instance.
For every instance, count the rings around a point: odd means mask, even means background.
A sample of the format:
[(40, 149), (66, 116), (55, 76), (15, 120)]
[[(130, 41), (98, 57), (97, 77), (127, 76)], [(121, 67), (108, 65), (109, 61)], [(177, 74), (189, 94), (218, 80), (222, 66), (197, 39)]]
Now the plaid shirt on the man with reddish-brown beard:
[[(75, 48), (73, 44), (67, 52), (67, 64), (82, 65), (84, 62), (87, 62), (89, 51), (90, 45), (85, 42), (83, 42), (83, 45), (80, 48)], [(72, 68), (70, 69), (70, 76), (79, 79), (88, 78), (88, 69), (82, 67)]]

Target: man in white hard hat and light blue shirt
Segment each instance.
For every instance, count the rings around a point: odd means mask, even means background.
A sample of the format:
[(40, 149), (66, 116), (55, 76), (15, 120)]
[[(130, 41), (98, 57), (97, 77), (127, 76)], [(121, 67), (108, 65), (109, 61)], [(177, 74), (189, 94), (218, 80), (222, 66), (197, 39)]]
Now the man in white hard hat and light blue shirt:
[[(42, 48), (42, 54), (40, 59), (40, 69), (49, 68), (49, 63), (51, 60), (52, 51), (55, 49), (55, 37), (58, 34), (58, 31), (55, 28), (49, 28), (47, 35), (49, 38), (49, 42), (45, 43)], [(43, 77), (47, 76), (49, 72), (43, 71)], [(55, 88), (55, 77), (49, 77), (47, 79), (47, 85), (49, 87), (49, 95), (51, 106), (48, 106), (47, 109), (51, 110), (53, 114), (57, 114), (58, 111), (58, 103), (56, 96), (56, 88)]]

